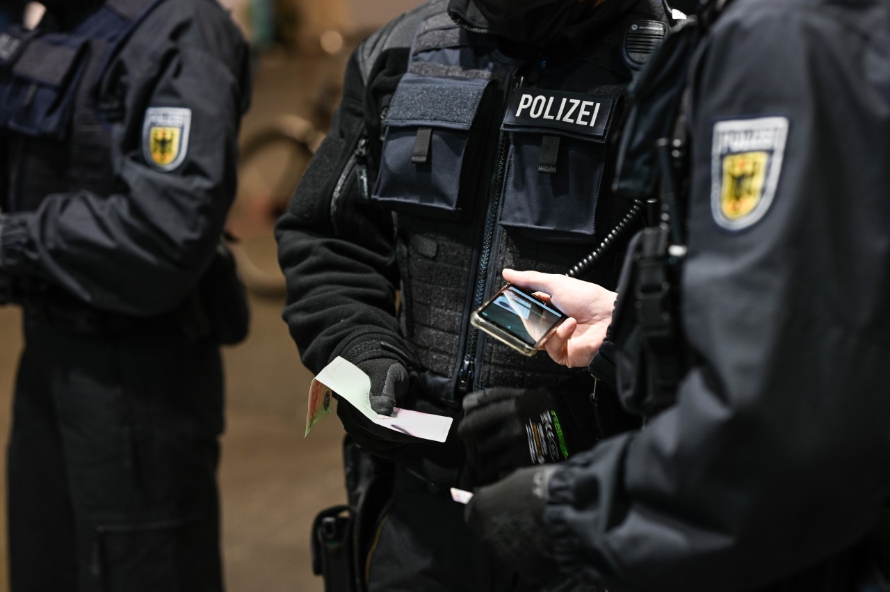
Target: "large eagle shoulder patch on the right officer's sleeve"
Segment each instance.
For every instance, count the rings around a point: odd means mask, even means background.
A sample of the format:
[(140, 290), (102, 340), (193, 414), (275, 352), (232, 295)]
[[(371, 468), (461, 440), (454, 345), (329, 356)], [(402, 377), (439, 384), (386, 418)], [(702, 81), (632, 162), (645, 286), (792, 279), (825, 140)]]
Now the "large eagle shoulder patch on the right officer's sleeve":
[(714, 125), (711, 213), (716, 223), (740, 231), (773, 203), (779, 184), (788, 118), (733, 119)]

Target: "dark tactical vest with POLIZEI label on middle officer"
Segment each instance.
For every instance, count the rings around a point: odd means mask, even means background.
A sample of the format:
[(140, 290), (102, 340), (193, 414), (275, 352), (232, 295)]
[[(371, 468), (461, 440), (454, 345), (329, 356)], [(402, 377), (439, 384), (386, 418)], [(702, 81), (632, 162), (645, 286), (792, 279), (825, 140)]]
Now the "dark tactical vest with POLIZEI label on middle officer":
[[(564, 273), (627, 215), (631, 201), (609, 191), (611, 140), (667, 12), (643, 0), (605, 28), (589, 50), (532, 59), (458, 26), (447, 0), (433, 0), (417, 29), (384, 114), (371, 199), (394, 212), (402, 326), (445, 402), (489, 385), (593, 390), (584, 370), (514, 353), (468, 320), (505, 267)], [(614, 255), (584, 279), (614, 288)]]

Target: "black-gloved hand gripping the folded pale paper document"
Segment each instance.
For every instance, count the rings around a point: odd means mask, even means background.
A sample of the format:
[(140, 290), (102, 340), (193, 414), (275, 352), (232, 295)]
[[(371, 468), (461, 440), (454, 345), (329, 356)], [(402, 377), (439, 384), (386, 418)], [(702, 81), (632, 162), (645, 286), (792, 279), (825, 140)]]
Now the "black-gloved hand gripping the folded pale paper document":
[[(392, 415), (392, 408), (401, 402), (409, 389), (408, 355), (392, 345), (378, 342), (352, 347), (344, 358), (371, 379), (371, 409), (380, 415)], [(405, 450), (406, 444), (418, 442), (414, 436), (376, 426), (347, 401), (337, 402), (336, 414), (355, 442), (378, 457), (395, 458)]]

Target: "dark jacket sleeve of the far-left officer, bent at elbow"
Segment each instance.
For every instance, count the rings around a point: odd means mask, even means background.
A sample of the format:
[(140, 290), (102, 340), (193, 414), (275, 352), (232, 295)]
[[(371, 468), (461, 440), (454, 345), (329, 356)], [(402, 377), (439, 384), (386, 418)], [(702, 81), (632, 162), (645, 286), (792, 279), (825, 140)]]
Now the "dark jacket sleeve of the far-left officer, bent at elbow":
[[(135, 315), (166, 312), (194, 287), (234, 196), (239, 119), (249, 95), (243, 39), (218, 6), (195, 5), (217, 13), (174, 19), (178, 9), (164, 4), (108, 70), (117, 78), (109, 88), (124, 93), (125, 116), (110, 132), (125, 191), (53, 194), (33, 212), (8, 215), (3, 248), (10, 272)], [(190, 114), (183, 158), (172, 170), (147, 153), (150, 109)]]

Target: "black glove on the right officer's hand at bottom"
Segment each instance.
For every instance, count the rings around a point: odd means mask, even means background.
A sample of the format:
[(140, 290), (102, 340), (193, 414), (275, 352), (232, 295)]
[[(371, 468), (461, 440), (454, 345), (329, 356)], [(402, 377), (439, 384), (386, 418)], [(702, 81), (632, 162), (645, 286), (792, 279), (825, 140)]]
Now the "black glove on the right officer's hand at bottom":
[(554, 466), (522, 468), (476, 491), (465, 519), (498, 558), (528, 583), (552, 580), (557, 564), (546, 532), (547, 483)]

